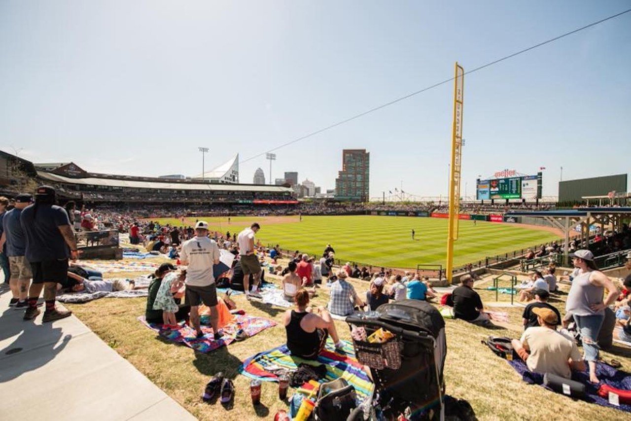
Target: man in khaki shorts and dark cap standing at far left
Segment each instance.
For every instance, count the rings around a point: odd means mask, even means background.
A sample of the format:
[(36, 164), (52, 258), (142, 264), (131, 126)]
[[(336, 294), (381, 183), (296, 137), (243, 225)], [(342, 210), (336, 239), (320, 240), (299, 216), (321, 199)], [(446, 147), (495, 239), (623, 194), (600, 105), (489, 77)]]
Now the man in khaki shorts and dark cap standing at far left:
[(6, 211), (0, 222), (0, 228), (2, 228), (0, 250), (4, 249), (6, 244), (6, 256), (9, 258), (11, 272), (9, 287), (11, 287), (13, 298), (9, 301), (9, 305), (15, 305), (18, 309), (27, 307), (27, 291), (33, 276), (31, 265), (24, 257), (27, 244), (20, 225), (22, 210), (32, 201), (33, 196), (30, 194), (18, 194), (15, 198), (15, 207)]

